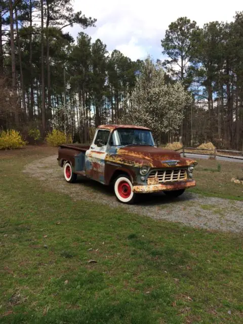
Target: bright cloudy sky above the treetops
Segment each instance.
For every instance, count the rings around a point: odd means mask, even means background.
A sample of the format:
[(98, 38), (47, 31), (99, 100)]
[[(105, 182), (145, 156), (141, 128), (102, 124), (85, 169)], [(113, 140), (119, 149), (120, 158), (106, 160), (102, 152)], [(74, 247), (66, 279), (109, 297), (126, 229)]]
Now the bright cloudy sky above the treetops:
[[(202, 27), (210, 21), (232, 21), (236, 11), (243, 11), (242, 0), (73, 0), (74, 10), (96, 18), (96, 27), (85, 29), (94, 42), (100, 38), (107, 50), (119, 50), (132, 60), (148, 54), (163, 59), (161, 39), (171, 22), (179, 17), (195, 20)], [(68, 29), (73, 37), (82, 31)]]

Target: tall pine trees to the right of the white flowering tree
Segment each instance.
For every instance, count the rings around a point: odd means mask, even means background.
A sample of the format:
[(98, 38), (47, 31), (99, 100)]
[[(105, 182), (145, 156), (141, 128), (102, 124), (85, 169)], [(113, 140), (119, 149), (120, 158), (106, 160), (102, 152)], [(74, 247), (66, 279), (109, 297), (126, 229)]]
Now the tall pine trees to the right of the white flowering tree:
[(211, 140), (243, 150), (243, 14), (199, 28), (186, 17), (170, 24), (161, 41), (164, 66), (193, 94), (180, 135), (187, 144)]

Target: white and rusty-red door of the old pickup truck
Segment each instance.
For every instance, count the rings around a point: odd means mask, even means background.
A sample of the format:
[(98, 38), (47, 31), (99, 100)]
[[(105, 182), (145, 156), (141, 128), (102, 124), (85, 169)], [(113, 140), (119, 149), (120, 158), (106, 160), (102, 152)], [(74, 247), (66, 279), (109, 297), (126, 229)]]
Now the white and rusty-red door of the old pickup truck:
[[(86, 175), (87, 177), (105, 183), (105, 156), (110, 131), (96, 130), (93, 143), (86, 151)], [(98, 147), (98, 141), (103, 145)]]

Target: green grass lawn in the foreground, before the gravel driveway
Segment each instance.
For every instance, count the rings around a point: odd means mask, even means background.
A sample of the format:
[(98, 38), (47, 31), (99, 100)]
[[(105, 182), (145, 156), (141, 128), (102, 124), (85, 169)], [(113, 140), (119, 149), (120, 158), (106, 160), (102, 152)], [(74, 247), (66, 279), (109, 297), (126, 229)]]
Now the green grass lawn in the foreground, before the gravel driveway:
[(242, 236), (73, 201), (22, 173), (55, 152), (0, 151), (1, 323), (242, 323)]

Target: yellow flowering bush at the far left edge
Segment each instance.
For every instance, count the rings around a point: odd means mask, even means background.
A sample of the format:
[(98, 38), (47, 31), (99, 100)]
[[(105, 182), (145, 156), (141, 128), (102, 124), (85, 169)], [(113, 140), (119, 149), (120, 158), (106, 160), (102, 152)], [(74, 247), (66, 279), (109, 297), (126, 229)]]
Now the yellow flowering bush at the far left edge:
[(27, 144), (18, 131), (10, 130), (0, 133), (0, 149), (21, 148)]

